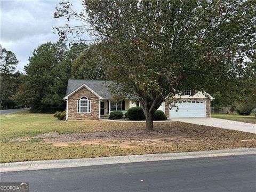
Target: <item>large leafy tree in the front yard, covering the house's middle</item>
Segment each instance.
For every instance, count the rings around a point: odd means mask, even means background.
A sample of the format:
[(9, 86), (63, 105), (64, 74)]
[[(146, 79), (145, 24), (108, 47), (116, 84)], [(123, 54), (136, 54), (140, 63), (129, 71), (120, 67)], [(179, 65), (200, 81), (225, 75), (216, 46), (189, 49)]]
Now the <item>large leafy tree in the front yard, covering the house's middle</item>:
[(118, 94), (138, 97), (147, 130), (166, 97), (233, 86), (255, 50), (253, 1), (83, 1), (81, 13), (61, 5), (54, 17), (68, 23), (57, 27), (60, 38), (88, 30), (104, 42), (107, 78)]

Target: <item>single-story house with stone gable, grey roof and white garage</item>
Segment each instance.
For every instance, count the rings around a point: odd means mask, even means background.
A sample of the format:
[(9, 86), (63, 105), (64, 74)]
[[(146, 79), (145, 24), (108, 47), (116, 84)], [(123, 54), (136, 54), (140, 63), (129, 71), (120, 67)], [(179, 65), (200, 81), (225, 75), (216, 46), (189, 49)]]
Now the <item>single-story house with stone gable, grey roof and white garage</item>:
[[(69, 79), (66, 96), (66, 119), (100, 119), (107, 117), (111, 111), (127, 111), (131, 107), (139, 106), (126, 97), (121, 102), (111, 101), (112, 97), (107, 85), (110, 82), (98, 80)], [(177, 96), (178, 97), (178, 96)], [(210, 117), (211, 95), (203, 92), (196, 94), (191, 91), (182, 93), (180, 100), (175, 104), (179, 107), (170, 109), (163, 102), (158, 110), (164, 111), (167, 118), (175, 117)]]

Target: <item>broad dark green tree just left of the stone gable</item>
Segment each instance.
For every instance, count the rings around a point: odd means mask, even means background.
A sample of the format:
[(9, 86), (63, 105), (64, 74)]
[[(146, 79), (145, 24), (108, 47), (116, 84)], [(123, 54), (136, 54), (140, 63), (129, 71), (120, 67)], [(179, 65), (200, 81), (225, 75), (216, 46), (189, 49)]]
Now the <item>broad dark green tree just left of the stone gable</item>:
[(85, 44), (74, 44), (68, 49), (63, 42), (38, 46), (24, 68), (25, 76), (15, 99), (35, 112), (64, 110), (63, 97), (71, 66), (85, 47)]

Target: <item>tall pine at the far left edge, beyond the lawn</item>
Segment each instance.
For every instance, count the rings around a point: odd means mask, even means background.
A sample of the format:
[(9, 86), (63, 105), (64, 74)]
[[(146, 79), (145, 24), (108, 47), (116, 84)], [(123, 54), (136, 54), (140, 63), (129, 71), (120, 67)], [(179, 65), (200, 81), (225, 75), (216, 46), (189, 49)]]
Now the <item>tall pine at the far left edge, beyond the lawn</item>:
[(16, 69), (18, 62), (19, 61), (13, 52), (7, 51), (0, 45), (0, 107), (2, 107), (2, 103), (4, 100), (9, 99), (9, 97), (11, 97), (14, 94), (17, 84), (15, 84), (15, 75), (13, 75), (13, 72)]

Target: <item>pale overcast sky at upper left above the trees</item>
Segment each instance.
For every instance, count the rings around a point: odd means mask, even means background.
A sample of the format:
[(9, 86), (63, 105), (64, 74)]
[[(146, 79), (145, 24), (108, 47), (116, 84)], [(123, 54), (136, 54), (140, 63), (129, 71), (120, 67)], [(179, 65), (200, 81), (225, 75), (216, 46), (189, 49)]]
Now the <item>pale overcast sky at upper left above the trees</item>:
[[(65, 25), (64, 19), (54, 19), (56, 1), (1, 1), (1, 36), (0, 44), (6, 50), (15, 53), (23, 71), (34, 49), (48, 41), (56, 42), (58, 34), (53, 34), (53, 27)], [(71, 1), (79, 7), (79, 1)]]

